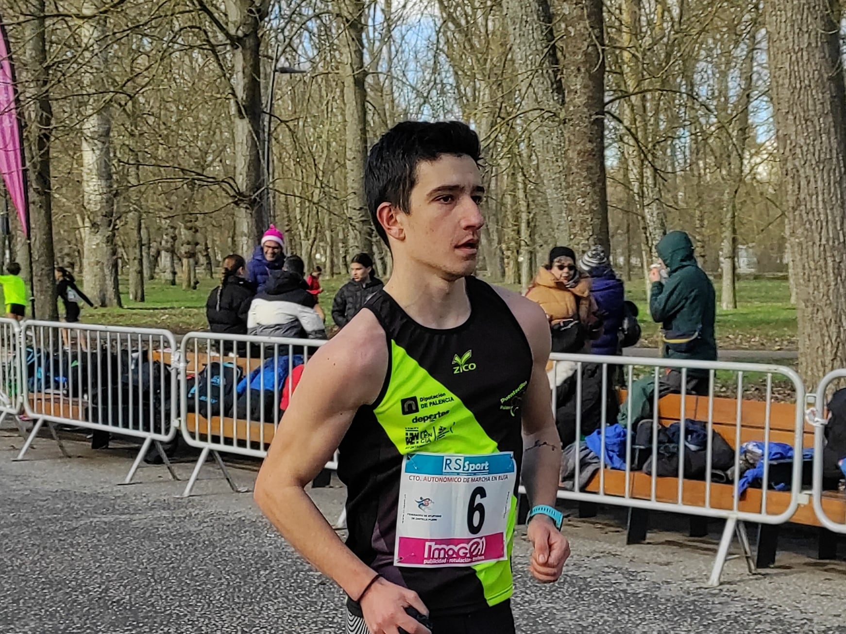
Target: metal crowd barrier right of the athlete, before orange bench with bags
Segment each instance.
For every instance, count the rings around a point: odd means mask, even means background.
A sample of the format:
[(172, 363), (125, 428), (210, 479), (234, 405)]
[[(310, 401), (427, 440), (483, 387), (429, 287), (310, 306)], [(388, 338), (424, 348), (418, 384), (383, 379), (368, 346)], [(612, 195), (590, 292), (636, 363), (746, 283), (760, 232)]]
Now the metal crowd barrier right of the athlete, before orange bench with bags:
[[(721, 363), (703, 361), (673, 361), (671, 359), (655, 358), (624, 358), (601, 357), (593, 355), (564, 355), (553, 354), (553, 369), (550, 371), (552, 386), (552, 410), (556, 413), (559, 432), (562, 424), (573, 419), (574, 442), (583, 436), (583, 431), (593, 434), (592, 446), (598, 453), (598, 470), (591, 481), (583, 485), (580, 476), (583, 467), (580, 451), (575, 451), (572, 490), (559, 489), (558, 498), (561, 500), (575, 500), (587, 503), (627, 506), (629, 509), (644, 511), (668, 511), (683, 513), (689, 516), (703, 516), (724, 519), (725, 528), (722, 532), (715, 560), (711, 572), (711, 585), (719, 583), (722, 567), (728, 556), (728, 549), (733, 535), (737, 533), (739, 542), (744, 550), (744, 556), (750, 565), (751, 560), (749, 540), (743, 522), (759, 522), (762, 524), (780, 524), (788, 522), (799, 506), (801, 493), (803, 457), (802, 451), (794, 451), (789, 463), (790, 487), (785, 493), (787, 497), (773, 509), (768, 506), (767, 491), (771, 483), (772, 469), (775, 468), (770, 459), (770, 445), (776, 438), (789, 440), (793, 447), (803, 447), (804, 435), (804, 403), (805, 387), (799, 375), (793, 369), (778, 365), (758, 363)], [(667, 369), (678, 372), (680, 392), (676, 397), (678, 412), (665, 417), (661, 408), (666, 407), (660, 401), (662, 385)], [(635, 382), (636, 372), (642, 374), (640, 383)], [(699, 370), (700, 373), (695, 373)], [(691, 372), (695, 376), (691, 375)], [(788, 385), (793, 408), (789, 410), (788, 428), (777, 430), (772, 410), (775, 407), (773, 399), (773, 379), (780, 379)], [(728, 389), (727, 384), (730, 385)], [(717, 384), (722, 385), (727, 397), (716, 395)], [(563, 385), (559, 387), (559, 385)], [(632, 411), (633, 391), (645, 385), (651, 389), (647, 405), (651, 406), (651, 413), (646, 419), (645, 431), (641, 432), (640, 443), (637, 440), (640, 418)], [(617, 387), (627, 391), (629, 397), (619, 405), (624, 422), (629, 421), (628, 433), (626, 427), (613, 427), (616, 420), (608, 416), (609, 396), (613, 397)], [(588, 391), (590, 390), (590, 394)], [(598, 396), (596, 391), (599, 391)], [(763, 402), (755, 404), (750, 399), (744, 399), (748, 391), (755, 391), (754, 396), (762, 396)], [(694, 392), (697, 392), (695, 394)], [(558, 402), (558, 396), (569, 396), (568, 402)], [(760, 400), (760, 398), (759, 398)], [(598, 402), (598, 404), (597, 404)], [(567, 407), (570, 409), (567, 409)], [(722, 419), (715, 418), (715, 406), (722, 411)], [(733, 415), (726, 420), (727, 406), (733, 410)], [(585, 419), (584, 410), (590, 407), (590, 420)], [(561, 410), (559, 411), (559, 408)], [(779, 411), (784, 411), (783, 409)], [(754, 413), (754, 416), (752, 414)], [(755, 421), (744, 418), (750, 416)], [(678, 441), (667, 443), (665, 436), (667, 429), (664, 424), (678, 421)], [(685, 476), (686, 458), (693, 457), (688, 432), (694, 427), (687, 421), (699, 421), (700, 431), (704, 431), (705, 446), (697, 447), (706, 453), (704, 473), (700, 480)], [(663, 424), (662, 424), (663, 423)], [(717, 429), (715, 429), (717, 428)], [(729, 445), (733, 449), (733, 461), (728, 470), (717, 470), (713, 465), (713, 449), (715, 434), (722, 431), (728, 435)], [(588, 434), (585, 434), (588, 435)], [(621, 436), (624, 438), (621, 444)], [(701, 435), (700, 435), (701, 436)], [(687, 440), (686, 440), (687, 439)], [(660, 440), (660, 442), (659, 442)], [(760, 502), (742, 500), (739, 491), (739, 473), (746, 466), (747, 457), (742, 447), (746, 440), (759, 440), (763, 454), (761, 473)], [(581, 440), (579, 440), (581, 442)], [(700, 440), (701, 441), (701, 440)], [(582, 445), (579, 445), (581, 448)], [(613, 456), (611, 448), (613, 447)], [(574, 449), (574, 448), (571, 448)], [(565, 458), (568, 451), (565, 448)], [(678, 467), (673, 473), (666, 473), (666, 465), (673, 464), (673, 454)], [(642, 456), (647, 456), (644, 460)], [(663, 458), (668, 458), (663, 462)], [(659, 461), (662, 461), (663, 475), (659, 474)], [(622, 467), (621, 467), (622, 463)], [(612, 469), (614, 467), (614, 469)], [(784, 469), (782, 463), (779, 467)], [(733, 472), (733, 477), (731, 473)], [(675, 478), (674, 481), (669, 480)], [(644, 529), (645, 530), (645, 529)]]

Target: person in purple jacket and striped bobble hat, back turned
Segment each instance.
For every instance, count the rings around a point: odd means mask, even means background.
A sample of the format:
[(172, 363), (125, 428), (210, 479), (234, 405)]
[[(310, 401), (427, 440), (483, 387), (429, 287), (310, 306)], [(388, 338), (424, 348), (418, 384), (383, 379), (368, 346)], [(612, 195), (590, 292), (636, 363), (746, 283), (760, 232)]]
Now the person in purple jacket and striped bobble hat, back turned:
[(598, 314), (602, 316), (602, 336), (591, 344), (591, 354), (618, 355), (622, 352), (620, 328), (625, 316), (623, 281), (618, 278), (599, 245), (591, 247), (579, 264), (591, 276), (591, 295), (596, 301)]

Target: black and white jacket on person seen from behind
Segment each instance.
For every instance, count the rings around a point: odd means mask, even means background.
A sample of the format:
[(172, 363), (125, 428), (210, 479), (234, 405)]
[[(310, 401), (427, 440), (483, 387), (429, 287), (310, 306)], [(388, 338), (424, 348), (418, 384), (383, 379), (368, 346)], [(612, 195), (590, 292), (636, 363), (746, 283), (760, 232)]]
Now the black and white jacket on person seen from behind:
[(247, 333), (294, 339), (325, 339), (326, 325), (314, 307), (317, 299), (305, 290), (296, 273), (273, 271), (265, 292), (255, 296), (247, 314)]

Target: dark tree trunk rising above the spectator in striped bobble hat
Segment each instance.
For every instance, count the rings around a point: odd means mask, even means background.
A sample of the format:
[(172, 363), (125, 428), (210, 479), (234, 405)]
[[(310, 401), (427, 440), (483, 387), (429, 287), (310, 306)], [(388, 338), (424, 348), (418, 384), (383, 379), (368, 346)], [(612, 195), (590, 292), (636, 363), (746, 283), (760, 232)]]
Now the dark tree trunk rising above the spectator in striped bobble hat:
[(558, 0), (562, 14), (566, 118), (564, 183), (569, 246), (611, 254), (605, 180), (605, 52), (602, 0)]

